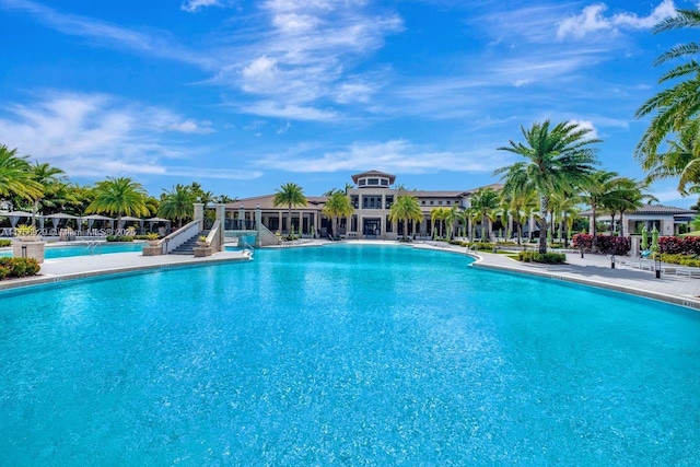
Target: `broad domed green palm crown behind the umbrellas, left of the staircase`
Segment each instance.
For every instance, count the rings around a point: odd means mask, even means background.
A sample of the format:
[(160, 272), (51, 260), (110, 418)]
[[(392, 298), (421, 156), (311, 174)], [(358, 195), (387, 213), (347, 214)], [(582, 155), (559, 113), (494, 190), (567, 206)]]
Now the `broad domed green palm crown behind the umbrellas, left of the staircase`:
[(95, 198), (85, 209), (86, 213), (106, 213), (117, 217), (117, 224), (121, 215), (148, 215), (145, 207), (148, 194), (141, 184), (128, 177), (107, 177), (95, 187)]

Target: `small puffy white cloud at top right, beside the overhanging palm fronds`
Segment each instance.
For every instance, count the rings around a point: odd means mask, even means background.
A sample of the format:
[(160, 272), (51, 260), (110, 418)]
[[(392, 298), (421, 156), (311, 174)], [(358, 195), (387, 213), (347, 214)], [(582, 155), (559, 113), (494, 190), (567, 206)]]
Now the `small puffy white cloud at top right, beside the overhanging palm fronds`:
[(673, 0), (663, 0), (648, 16), (639, 16), (629, 12), (606, 16), (604, 13), (607, 9), (608, 7), (605, 3), (585, 7), (580, 14), (559, 23), (557, 37), (559, 39), (567, 36), (582, 38), (590, 33), (600, 31), (617, 32), (620, 28), (650, 30), (660, 21), (676, 14), (676, 7)]

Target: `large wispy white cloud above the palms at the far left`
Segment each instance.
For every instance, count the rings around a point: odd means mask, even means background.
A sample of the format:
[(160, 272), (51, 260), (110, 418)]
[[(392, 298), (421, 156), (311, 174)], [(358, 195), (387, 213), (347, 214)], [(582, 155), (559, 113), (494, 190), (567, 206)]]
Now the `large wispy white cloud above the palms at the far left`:
[(69, 176), (166, 174), (164, 160), (187, 159), (195, 149), (180, 147), (178, 133), (212, 131), (208, 121), (105, 94), (51, 93), (0, 110), (5, 144)]

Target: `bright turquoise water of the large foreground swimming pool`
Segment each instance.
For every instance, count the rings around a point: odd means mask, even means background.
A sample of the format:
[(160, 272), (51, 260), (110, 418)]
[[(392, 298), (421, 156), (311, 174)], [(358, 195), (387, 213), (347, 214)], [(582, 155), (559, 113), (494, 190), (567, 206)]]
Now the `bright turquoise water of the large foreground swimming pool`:
[(0, 465), (697, 465), (700, 314), (408, 247), (0, 293)]

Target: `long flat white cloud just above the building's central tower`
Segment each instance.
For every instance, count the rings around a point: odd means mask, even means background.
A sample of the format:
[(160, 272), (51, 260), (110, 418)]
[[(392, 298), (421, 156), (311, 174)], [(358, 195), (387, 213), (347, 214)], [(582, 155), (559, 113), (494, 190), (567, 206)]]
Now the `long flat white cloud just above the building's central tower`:
[[(305, 149), (307, 152), (317, 150)], [(348, 148), (327, 151), (323, 155), (304, 155), (295, 151), (272, 154), (257, 162), (258, 166), (285, 172), (330, 173), (362, 171), (373, 167), (380, 171), (404, 174), (435, 173), (444, 167), (457, 172), (490, 173), (500, 167), (503, 157), (493, 149), (471, 149), (469, 153), (434, 151), (411, 144), (405, 140), (386, 142), (355, 142)], [(488, 154), (488, 156), (486, 155)], [(440, 161), (438, 164), (436, 161)]]

